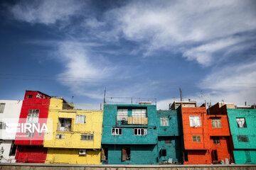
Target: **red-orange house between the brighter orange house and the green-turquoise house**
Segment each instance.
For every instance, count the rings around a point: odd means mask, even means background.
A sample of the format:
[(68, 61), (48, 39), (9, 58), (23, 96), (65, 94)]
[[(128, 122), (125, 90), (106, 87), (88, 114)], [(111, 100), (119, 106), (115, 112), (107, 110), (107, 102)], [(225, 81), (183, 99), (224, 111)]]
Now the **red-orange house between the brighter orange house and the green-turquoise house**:
[(225, 103), (216, 103), (208, 108), (208, 129), (210, 135), (210, 154), (213, 164), (233, 162), (233, 140), (230, 136), (227, 107)]

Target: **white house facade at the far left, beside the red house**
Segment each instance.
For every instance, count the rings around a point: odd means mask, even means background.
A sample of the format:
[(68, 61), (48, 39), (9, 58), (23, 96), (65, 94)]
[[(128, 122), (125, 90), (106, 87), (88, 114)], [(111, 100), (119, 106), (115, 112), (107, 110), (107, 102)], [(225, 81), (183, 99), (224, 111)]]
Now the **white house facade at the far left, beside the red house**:
[[(23, 101), (0, 100), (0, 162), (16, 162), (14, 145)], [(12, 125), (12, 127), (11, 127)]]

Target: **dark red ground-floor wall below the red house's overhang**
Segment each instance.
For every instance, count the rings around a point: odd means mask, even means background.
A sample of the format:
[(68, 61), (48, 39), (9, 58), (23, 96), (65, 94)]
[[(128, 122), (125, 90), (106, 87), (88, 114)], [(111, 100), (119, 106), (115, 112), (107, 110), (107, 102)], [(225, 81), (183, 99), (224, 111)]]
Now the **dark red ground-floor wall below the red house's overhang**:
[(47, 148), (43, 146), (18, 145), (16, 162), (44, 163), (46, 161)]

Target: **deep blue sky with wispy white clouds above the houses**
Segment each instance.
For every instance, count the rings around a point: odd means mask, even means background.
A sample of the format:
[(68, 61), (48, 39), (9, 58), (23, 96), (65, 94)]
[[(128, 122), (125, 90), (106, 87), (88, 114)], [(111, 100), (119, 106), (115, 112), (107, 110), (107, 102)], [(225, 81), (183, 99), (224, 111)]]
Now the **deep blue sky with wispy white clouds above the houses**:
[(255, 1), (1, 1), (0, 98), (256, 103)]

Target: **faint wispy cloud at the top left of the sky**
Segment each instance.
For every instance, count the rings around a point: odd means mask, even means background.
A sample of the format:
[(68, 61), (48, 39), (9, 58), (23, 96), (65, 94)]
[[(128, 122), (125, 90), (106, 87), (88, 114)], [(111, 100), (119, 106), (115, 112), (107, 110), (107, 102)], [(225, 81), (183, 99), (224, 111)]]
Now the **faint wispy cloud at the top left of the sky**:
[(83, 6), (82, 1), (74, 0), (20, 1), (11, 7), (11, 12), (20, 21), (48, 25), (56, 21), (67, 21)]

